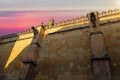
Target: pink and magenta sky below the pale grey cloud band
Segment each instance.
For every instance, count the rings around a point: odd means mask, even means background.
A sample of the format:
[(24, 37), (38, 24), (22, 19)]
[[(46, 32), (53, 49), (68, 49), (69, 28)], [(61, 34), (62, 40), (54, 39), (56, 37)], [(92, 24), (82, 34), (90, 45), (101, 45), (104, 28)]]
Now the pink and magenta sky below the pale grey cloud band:
[(47, 24), (50, 18), (56, 22), (81, 17), (88, 10), (46, 10), (46, 11), (1, 11), (0, 35), (19, 32), (32, 26)]

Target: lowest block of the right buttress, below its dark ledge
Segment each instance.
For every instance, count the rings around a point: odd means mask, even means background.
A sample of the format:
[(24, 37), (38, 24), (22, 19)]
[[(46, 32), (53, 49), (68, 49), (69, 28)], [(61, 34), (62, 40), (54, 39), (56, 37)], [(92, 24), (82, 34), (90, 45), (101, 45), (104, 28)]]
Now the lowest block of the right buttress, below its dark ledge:
[(92, 64), (94, 76), (96, 79), (109, 80), (111, 78), (109, 59), (94, 60)]

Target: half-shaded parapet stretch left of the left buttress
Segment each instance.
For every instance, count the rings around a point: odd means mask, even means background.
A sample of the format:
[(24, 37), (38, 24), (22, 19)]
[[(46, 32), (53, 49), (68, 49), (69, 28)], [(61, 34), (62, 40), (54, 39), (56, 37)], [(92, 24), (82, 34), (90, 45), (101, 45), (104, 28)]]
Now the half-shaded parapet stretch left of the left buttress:
[[(41, 27), (42, 27), (42, 25), (35, 27), (39, 33), (41, 33), (39, 30)], [(13, 33), (13, 34), (9, 34), (9, 35), (5, 35), (5, 36), (0, 37), (2, 39), (2, 41), (0, 41), (0, 44), (16, 42), (16, 41), (26, 40), (26, 39), (32, 39), (33, 36), (34, 36), (33, 30), (27, 29), (27, 30), (23, 30), (23, 31), (18, 32), (18, 33)]]

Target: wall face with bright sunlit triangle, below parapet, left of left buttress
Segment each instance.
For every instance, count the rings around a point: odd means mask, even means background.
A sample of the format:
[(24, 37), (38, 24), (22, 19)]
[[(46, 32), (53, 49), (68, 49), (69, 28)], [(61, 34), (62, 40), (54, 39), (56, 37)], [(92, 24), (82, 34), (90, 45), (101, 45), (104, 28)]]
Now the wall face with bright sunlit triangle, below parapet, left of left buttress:
[[(28, 36), (28, 34), (26, 35)], [(13, 42), (12, 40), (5, 42), (8, 39), (4, 39), (3, 44), (0, 44), (0, 73), (5, 77), (12, 78), (12, 80), (17, 80), (21, 61), (25, 58), (28, 46), (32, 41), (32, 38), (24, 39), (26, 35), (14, 37), (18, 40)], [(20, 39), (23, 36), (24, 38)]]

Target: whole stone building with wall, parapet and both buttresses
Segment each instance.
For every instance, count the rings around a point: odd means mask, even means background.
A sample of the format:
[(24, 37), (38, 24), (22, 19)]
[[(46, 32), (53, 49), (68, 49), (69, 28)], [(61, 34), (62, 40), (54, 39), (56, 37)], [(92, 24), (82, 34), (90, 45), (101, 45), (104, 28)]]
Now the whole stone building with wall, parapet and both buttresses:
[(115, 9), (0, 37), (0, 80), (120, 80), (119, 25)]

